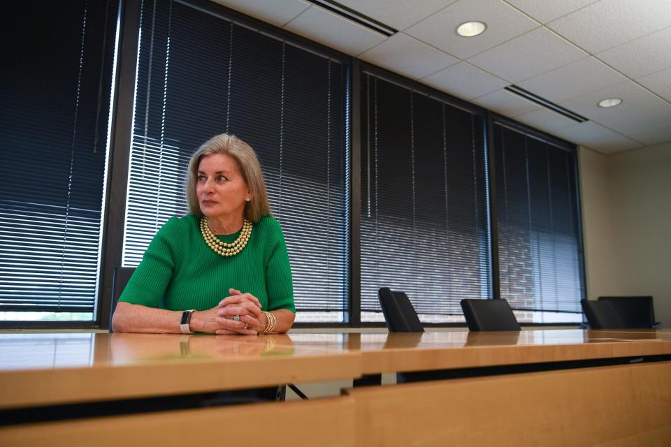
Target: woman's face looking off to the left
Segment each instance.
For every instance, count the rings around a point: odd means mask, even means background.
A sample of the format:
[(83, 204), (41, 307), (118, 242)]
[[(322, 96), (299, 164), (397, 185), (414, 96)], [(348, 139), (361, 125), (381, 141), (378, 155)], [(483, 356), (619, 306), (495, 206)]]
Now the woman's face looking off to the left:
[(238, 163), (229, 155), (203, 156), (198, 165), (196, 196), (207, 217), (243, 217), (249, 191)]

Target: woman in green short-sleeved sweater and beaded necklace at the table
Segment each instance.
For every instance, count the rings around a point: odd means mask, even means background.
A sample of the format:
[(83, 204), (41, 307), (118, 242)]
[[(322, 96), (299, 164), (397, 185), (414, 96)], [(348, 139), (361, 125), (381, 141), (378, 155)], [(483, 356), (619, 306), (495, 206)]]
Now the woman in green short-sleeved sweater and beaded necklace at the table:
[(190, 214), (159, 230), (121, 295), (115, 332), (287, 332), (296, 309), (282, 228), (254, 149), (217, 135), (192, 156)]

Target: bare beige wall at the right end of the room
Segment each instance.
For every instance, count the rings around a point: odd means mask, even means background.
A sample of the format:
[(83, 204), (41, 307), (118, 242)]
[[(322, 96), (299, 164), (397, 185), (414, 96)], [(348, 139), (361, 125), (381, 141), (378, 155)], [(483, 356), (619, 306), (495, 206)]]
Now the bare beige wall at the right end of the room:
[(671, 142), (579, 163), (588, 297), (653, 295), (671, 327)]

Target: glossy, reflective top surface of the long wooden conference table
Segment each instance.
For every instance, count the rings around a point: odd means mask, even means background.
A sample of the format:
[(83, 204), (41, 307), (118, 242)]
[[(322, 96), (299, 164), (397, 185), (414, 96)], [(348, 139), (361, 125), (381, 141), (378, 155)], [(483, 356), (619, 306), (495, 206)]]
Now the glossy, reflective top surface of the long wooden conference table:
[(115, 367), (147, 362), (236, 361), (407, 349), (556, 346), (650, 342), (671, 344), (670, 330), (546, 329), (521, 332), (321, 333), (167, 335), (108, 333), (0, 334), (0, 372)]

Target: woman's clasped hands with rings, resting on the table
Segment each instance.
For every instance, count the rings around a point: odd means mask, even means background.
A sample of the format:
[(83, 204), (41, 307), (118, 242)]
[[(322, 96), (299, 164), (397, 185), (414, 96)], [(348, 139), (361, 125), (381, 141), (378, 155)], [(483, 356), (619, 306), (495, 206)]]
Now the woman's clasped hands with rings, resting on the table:
[[(257, 335), (263, 332), (268, 318), (261, 311), (261, 303), (251, 293), (229, 288), (230, 296), (212, 309), (194, 312), (191, 328), (194, 332), (217, 335)], [(240, 316), (240, 321), (234, 318)]]

